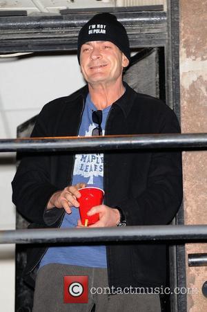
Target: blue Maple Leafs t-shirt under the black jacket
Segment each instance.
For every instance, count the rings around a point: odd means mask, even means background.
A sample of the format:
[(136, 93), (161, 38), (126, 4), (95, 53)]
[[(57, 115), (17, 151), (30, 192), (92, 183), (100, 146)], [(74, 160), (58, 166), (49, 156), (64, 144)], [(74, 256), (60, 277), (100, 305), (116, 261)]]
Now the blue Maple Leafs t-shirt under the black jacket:
[[(105, 133), (106, 118), (110, 107), (102, 111), (103, 119), (101, 128), (103, 135)], [(90, 95), (88, 94), (79, 128), (79, 136), (91, 136), (92, 129), (97, 127), (97, 124), (92, 122), (92, 111), (97, 111), (97, 108), (91, 102)], [(95, 186), (103, 189), (103, 154), (77, 154), (75, 156), (72, 185), (80, 182), (86, 183), (87, 186)], [(72, 207), (72, 213), (65, 214), (61, 228), (73, 228), (77, 226), (78, 219), (80, 219), (79, 209)], [(50, 247), (41, 259), (39, 267), (49, 263), (106, 268), (106, 246)]]

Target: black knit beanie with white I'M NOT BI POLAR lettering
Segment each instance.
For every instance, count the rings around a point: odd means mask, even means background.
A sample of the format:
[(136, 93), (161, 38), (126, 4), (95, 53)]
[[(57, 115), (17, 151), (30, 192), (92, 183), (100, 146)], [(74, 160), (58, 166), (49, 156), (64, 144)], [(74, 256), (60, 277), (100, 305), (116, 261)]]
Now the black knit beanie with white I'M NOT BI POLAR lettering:
[(81, 46), (86, 42), (109, 41), (115, 44), (130, 61), (128, 35), (117, 17), (100, 13), (92, 17), (80, 30), (77, 43), (77, 57), (80, 64)]

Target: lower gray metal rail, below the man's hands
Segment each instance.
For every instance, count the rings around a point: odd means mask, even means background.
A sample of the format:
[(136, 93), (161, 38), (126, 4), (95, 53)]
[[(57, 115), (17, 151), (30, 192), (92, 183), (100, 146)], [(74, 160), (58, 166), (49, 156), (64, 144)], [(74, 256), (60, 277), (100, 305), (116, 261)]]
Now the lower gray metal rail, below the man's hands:
[(126, 226), (1, 230), (0, 244), (95, 243), (109, 241), (203, 241), (206, 226)]

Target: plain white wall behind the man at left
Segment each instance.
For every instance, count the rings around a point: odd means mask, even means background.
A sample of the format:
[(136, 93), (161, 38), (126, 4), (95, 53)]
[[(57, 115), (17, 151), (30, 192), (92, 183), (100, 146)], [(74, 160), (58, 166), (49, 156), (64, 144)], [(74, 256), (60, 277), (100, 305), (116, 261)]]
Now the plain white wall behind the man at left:
[[(46, 102), (83, 86), (75, 55), (0, 58), (0, 138), (15, 138), (17, 126), (39, 113)], [(15, 154), (0, 154), (0, 229), (15, 228), (11, 181)], [(0, 246), (1, 311), (14, 311), (14, 246)]]

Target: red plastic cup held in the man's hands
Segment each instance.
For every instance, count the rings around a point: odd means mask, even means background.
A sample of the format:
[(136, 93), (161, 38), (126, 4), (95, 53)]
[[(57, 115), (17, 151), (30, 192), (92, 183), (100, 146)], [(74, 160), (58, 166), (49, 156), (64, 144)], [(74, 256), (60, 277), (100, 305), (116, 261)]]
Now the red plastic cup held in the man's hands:
[(79, 202), (79, 212), (81, 216), (81, 223), (83, 226), (90, 226), (90, 224), (99, 221), (99, 213), (88, 216), (87, 212), (94, 206), (103, 203), (104, 191), (99, 187), (83, 187), (79, 189), (81, 197), (77, 199)]

